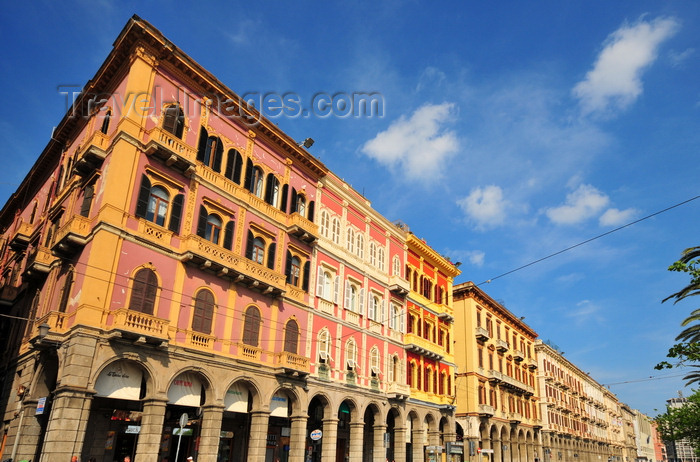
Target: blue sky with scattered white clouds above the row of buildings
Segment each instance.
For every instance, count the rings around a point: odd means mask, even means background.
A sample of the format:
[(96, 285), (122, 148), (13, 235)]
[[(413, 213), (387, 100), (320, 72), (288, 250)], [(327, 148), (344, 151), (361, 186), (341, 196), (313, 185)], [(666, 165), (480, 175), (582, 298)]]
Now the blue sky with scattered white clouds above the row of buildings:
[(660, 302), (688, 282), (666, 268), (700, 245), (700, 200), (498, 276), (699, 194), (700, 4), (207, 5), (5, 5), (0, 199), (63, 116), (58, 87), (138, 14), (239, 94), (381, 94), (381, 116), (273, 120), (622, 401), (655, 415), (683, 389), (653, 365), (697, 307)]

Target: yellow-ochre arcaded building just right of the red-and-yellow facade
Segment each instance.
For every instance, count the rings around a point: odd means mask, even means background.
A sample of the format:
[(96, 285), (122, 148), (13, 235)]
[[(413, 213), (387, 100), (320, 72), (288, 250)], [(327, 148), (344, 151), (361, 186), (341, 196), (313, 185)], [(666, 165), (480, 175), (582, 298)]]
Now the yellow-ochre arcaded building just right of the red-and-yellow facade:
[(539, 460), (537, 333), (471, 282), (454, 287), (454, 313), (465, 460)]

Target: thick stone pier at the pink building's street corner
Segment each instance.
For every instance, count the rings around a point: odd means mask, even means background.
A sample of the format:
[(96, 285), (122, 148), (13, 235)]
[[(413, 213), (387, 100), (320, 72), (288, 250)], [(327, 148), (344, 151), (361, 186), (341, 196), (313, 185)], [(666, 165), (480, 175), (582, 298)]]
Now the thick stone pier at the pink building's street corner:
[(40, 462), (70, 460), (74, 455), (80, 456), (91, 404), (92, 394), (84, 389), (56, 389)]

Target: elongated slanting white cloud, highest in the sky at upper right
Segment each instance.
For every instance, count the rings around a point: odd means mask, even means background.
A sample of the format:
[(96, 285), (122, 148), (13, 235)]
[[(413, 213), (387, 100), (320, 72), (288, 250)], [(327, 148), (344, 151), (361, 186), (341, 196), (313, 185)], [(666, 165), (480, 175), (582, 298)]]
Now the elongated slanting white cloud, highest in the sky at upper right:
[(676, 33), (673, 18), (640, 20), (608, 36), (593, 69), (576, 84), (584, 114), (625, 109), (642, 94), (641, 76), (657, 58), (661, 43)]

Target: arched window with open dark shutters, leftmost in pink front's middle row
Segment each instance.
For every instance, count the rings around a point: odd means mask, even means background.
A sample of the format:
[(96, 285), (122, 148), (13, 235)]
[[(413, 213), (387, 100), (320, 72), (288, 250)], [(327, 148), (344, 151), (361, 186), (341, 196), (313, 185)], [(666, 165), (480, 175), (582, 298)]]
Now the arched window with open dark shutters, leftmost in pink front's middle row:
[(136, 216), (152, 223), (165, 226), (170, 213), (168, 229), (174, 233), (180, 232), (180, 220), (185, 201), (184, 194), (176, 195), (172, 202), (168, 191), (162, 186), (152, 186), (148, 176), (141, 177), (141, 188), (136, 202)]

